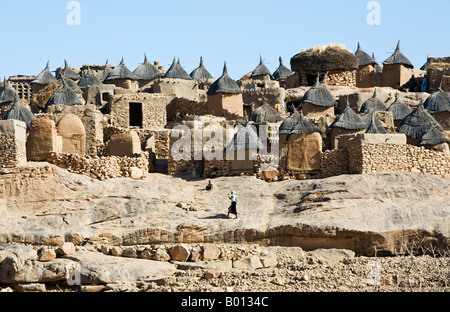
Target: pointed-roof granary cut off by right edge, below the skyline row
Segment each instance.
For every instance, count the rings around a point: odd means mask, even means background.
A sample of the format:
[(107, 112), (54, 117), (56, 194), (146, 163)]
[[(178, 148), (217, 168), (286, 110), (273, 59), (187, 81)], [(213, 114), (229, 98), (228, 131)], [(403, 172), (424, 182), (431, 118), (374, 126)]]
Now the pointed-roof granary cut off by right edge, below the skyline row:
[(423, 103), (423, 107), (436, 119), (445, 131), (450, 130), (450, 93), (441, 87)]

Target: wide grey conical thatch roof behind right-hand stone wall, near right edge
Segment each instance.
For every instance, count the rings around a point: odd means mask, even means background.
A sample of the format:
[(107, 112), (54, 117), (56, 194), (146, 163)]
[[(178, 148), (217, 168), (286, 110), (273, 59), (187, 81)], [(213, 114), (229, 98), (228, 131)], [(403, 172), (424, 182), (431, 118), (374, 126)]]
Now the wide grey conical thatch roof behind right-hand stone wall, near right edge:
[(397, 131), (413, 138), (420, 138), (433, 127), (444, 131), (436, 119), (423, 107), (423, 103), (420, 103), (411, 114), (402, 120)]

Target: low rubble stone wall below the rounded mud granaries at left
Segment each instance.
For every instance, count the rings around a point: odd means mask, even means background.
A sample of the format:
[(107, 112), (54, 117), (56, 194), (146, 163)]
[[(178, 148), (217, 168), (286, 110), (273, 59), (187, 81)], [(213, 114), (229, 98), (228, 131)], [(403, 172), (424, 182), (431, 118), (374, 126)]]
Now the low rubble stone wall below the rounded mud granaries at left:
[(47, 161), (69, 172), (86, 175), (101, 181), (113, 178), (142, 179), (148, 175), (151, 163), (148, 153), (135, 157), (90, 157), (77, 154), (51, 153)]

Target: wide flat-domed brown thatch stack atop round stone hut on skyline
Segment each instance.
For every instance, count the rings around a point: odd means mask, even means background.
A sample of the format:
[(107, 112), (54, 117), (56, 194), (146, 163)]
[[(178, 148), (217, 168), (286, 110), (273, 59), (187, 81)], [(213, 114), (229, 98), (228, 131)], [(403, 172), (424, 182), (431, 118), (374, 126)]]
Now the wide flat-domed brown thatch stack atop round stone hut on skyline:
[(325, 73), (357, 70), (359, 59), (347, 49), (328, 46), (312, 48), (291, 58), (291, 69), (296, 72)]

